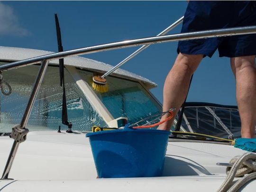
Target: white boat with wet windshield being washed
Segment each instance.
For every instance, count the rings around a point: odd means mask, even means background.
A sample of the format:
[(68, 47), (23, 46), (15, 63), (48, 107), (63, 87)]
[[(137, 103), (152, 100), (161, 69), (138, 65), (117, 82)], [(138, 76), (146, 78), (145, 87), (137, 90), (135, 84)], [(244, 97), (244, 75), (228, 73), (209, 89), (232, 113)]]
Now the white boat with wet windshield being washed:
[[(245, 28), (248, 33), (256, 31), (255, 27)], [(245, 33), (243, 29), (239, 30), (226, 30), (225, 34)], [(207, 33), (223, 35), (221, 30)], [(200, 35), (205, 35), (205, 32)], [(62, 53), (0, 47), (0, 71), (5, 84), (9, 84), (7, 92), (11, 92), (0, 98), (0, 172), (3, 172), (0, 191), (218, 191), (227, 177), (230, 159), (246, 152), (230, 143), (230, 138), (239, 137), (236, 106), (186, 103), (179, 130), (172, 127), (174, 132), (168, 140), (162, 176), (97, 178), (90, 142), (85, 137), (91, 132), (91, 127), (117, 125), (119, 117), (127, 117), (133, 123), (141, 121), (161, 113), (162, 106), (150, 92), (157, 86), (154, 82), (121, 69), (108, 77), (108, 92), (93, 90), (93, 72), (104, 73), (112, 66), (74, 55), (124, 44), (133, 46), (170, 41), (172, 38), (181, 36), (110, 43)], [(73, 124), (69, 133), (62, 125), (59, 58), (65, 59), (68, 120)], [(174, 125), (177, 122), (178, 119)], [(13, 142), (9, 136), (14, 137), (13, 133), (17, 132), (16, 129), (12, 131), (12, 127), (22, 128), (22, 125), (26, 125), (29, 132)], [(255, 188), (256, 182), (252, 181), (240, 190), (252, 192)]]

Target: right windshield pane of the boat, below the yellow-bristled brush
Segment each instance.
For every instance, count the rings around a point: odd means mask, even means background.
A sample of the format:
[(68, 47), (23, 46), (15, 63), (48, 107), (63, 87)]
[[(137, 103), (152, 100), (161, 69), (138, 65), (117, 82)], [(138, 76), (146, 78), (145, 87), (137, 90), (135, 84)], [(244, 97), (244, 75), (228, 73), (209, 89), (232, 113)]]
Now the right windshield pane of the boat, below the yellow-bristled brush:
[[(80, 75), (84, 81), (92, 84), (91, 72), (80, 70)], [(128, 122), (132, 124), (162, 112), (162, 107), (139, 83), (110, 76), (107, 83), (108, 92), (94, 92), (114, 118), (128, 117)]]

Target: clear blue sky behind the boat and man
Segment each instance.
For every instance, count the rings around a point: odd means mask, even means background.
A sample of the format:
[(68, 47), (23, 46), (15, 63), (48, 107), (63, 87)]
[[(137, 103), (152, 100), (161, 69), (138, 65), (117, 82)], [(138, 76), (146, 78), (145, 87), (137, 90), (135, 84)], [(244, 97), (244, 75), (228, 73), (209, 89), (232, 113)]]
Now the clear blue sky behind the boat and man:
[[(61, 25), (64, 50), (155, 36), (183, 16), (186, 1), (0, 1), (0, 46), (57, 51), (54, 14)], [(179, 33), (181, 25), (172, 33)], [(177, 42), (152, 45), (121, 68), (158, 87), (162, 102), (165, 76), (173, 66)], [(138, 48), (83, 57), (116, 65)], [(187, 101), (237, 105), (229, 58), (204, 58), (195, 72)]]

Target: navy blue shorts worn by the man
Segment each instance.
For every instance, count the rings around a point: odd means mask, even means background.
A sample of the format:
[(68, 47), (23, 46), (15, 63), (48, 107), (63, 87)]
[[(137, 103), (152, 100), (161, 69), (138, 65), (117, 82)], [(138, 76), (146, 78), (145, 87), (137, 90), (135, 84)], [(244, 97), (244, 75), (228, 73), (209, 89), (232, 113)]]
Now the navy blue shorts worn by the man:
[[(190, 1), (182, 33), (249, 25), (256, 25), (256, 2)], [(256, 34), (181, 41), (177, 52), (211, 57), (217, 48), (219, 57), (256, 55)]]

